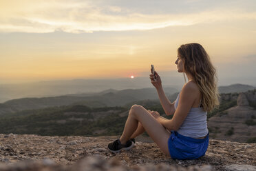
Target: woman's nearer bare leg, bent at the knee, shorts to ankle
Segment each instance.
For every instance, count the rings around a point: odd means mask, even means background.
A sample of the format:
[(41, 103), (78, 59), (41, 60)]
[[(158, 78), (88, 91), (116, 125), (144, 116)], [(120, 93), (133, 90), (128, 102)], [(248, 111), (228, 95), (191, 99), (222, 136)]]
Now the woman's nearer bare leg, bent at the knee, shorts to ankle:
[(159, 123), (152, 114), (141, 105), (133, 105), (131, 107), (129, 116), (125, 123), (125, 129), (120, 137), (121, 143), (125, 144), (131, 138), (134, 132), (136, 132), (139, 122), (162, 152), (169, 155), (167, 143), (171, 133), (168, 132), (164, 126), (162, 126), (162, 124)]

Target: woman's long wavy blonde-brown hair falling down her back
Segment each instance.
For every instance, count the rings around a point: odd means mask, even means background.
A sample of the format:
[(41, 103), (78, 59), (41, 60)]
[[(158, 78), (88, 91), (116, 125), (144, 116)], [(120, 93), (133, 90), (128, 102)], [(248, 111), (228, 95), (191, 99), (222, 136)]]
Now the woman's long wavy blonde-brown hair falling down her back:
[[(178, 55), (184, 61), (184, 72), (191, 74), (202, 93), (202, 108), (211, 112), (219, 103), (216, 69), (209, 55), (199, 43), (188, 43), (178, 48)], [(186, 81), (186, 80), (185, 80)]]

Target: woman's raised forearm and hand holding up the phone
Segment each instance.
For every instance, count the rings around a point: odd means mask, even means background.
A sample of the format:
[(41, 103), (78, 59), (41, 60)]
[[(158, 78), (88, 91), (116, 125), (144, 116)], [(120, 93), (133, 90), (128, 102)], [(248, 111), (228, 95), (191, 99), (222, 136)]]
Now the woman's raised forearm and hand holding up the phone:
[(166, 95), (164, 94), (164, 90), (162, 88), (162, 81), (159, 74), (155, 72), (156, 81), (153, 80), (153, 75), (154, 74), (149, 75), (151, 79), (151, 83), (158, 91), (158, 97), (160, 99), (160, 103), (162, 105), (162, 108), (164, 109), (165, 114), (167, 115), (174, 114), (175, 112), (174, 103), (171, 103), (171, 101), (169, 101), (169, 99), (167, 99)]

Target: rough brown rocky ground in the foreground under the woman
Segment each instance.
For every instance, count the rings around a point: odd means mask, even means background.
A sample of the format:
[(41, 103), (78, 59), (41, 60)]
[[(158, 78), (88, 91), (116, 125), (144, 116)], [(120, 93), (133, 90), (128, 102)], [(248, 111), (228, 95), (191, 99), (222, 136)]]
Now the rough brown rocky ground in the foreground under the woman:
[[(48, 170), (85, 170), (92, 165), (99, 167), (98, 170), (113, 167), (115, 170), (256, 170), (256, 143), (212, 139), (204, 157), (181, 161), (165, 156), (155, 143), (141, 141), (137, 141), (129, 151), (113, 154), (107, 150), (107, 144), (115, 139), (0, 134), (0, 170), (22, 170), (22, 167), (32, 170), (39, 165), (50, 167)], [(28, 159), (32, 161), (28, 163)]]

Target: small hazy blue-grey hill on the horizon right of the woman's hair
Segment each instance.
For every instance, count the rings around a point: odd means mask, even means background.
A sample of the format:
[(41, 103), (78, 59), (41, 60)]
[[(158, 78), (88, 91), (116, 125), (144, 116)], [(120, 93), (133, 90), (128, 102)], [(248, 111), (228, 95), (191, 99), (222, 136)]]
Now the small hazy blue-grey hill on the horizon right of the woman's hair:
[(256, 87), (249, 86), (245, 84), (232, 84), (231, 86), (220, 86), (219, 92), (220, 93), (230, 93), (230, 92), (246, 92), (248, 90), (254, 90)]

